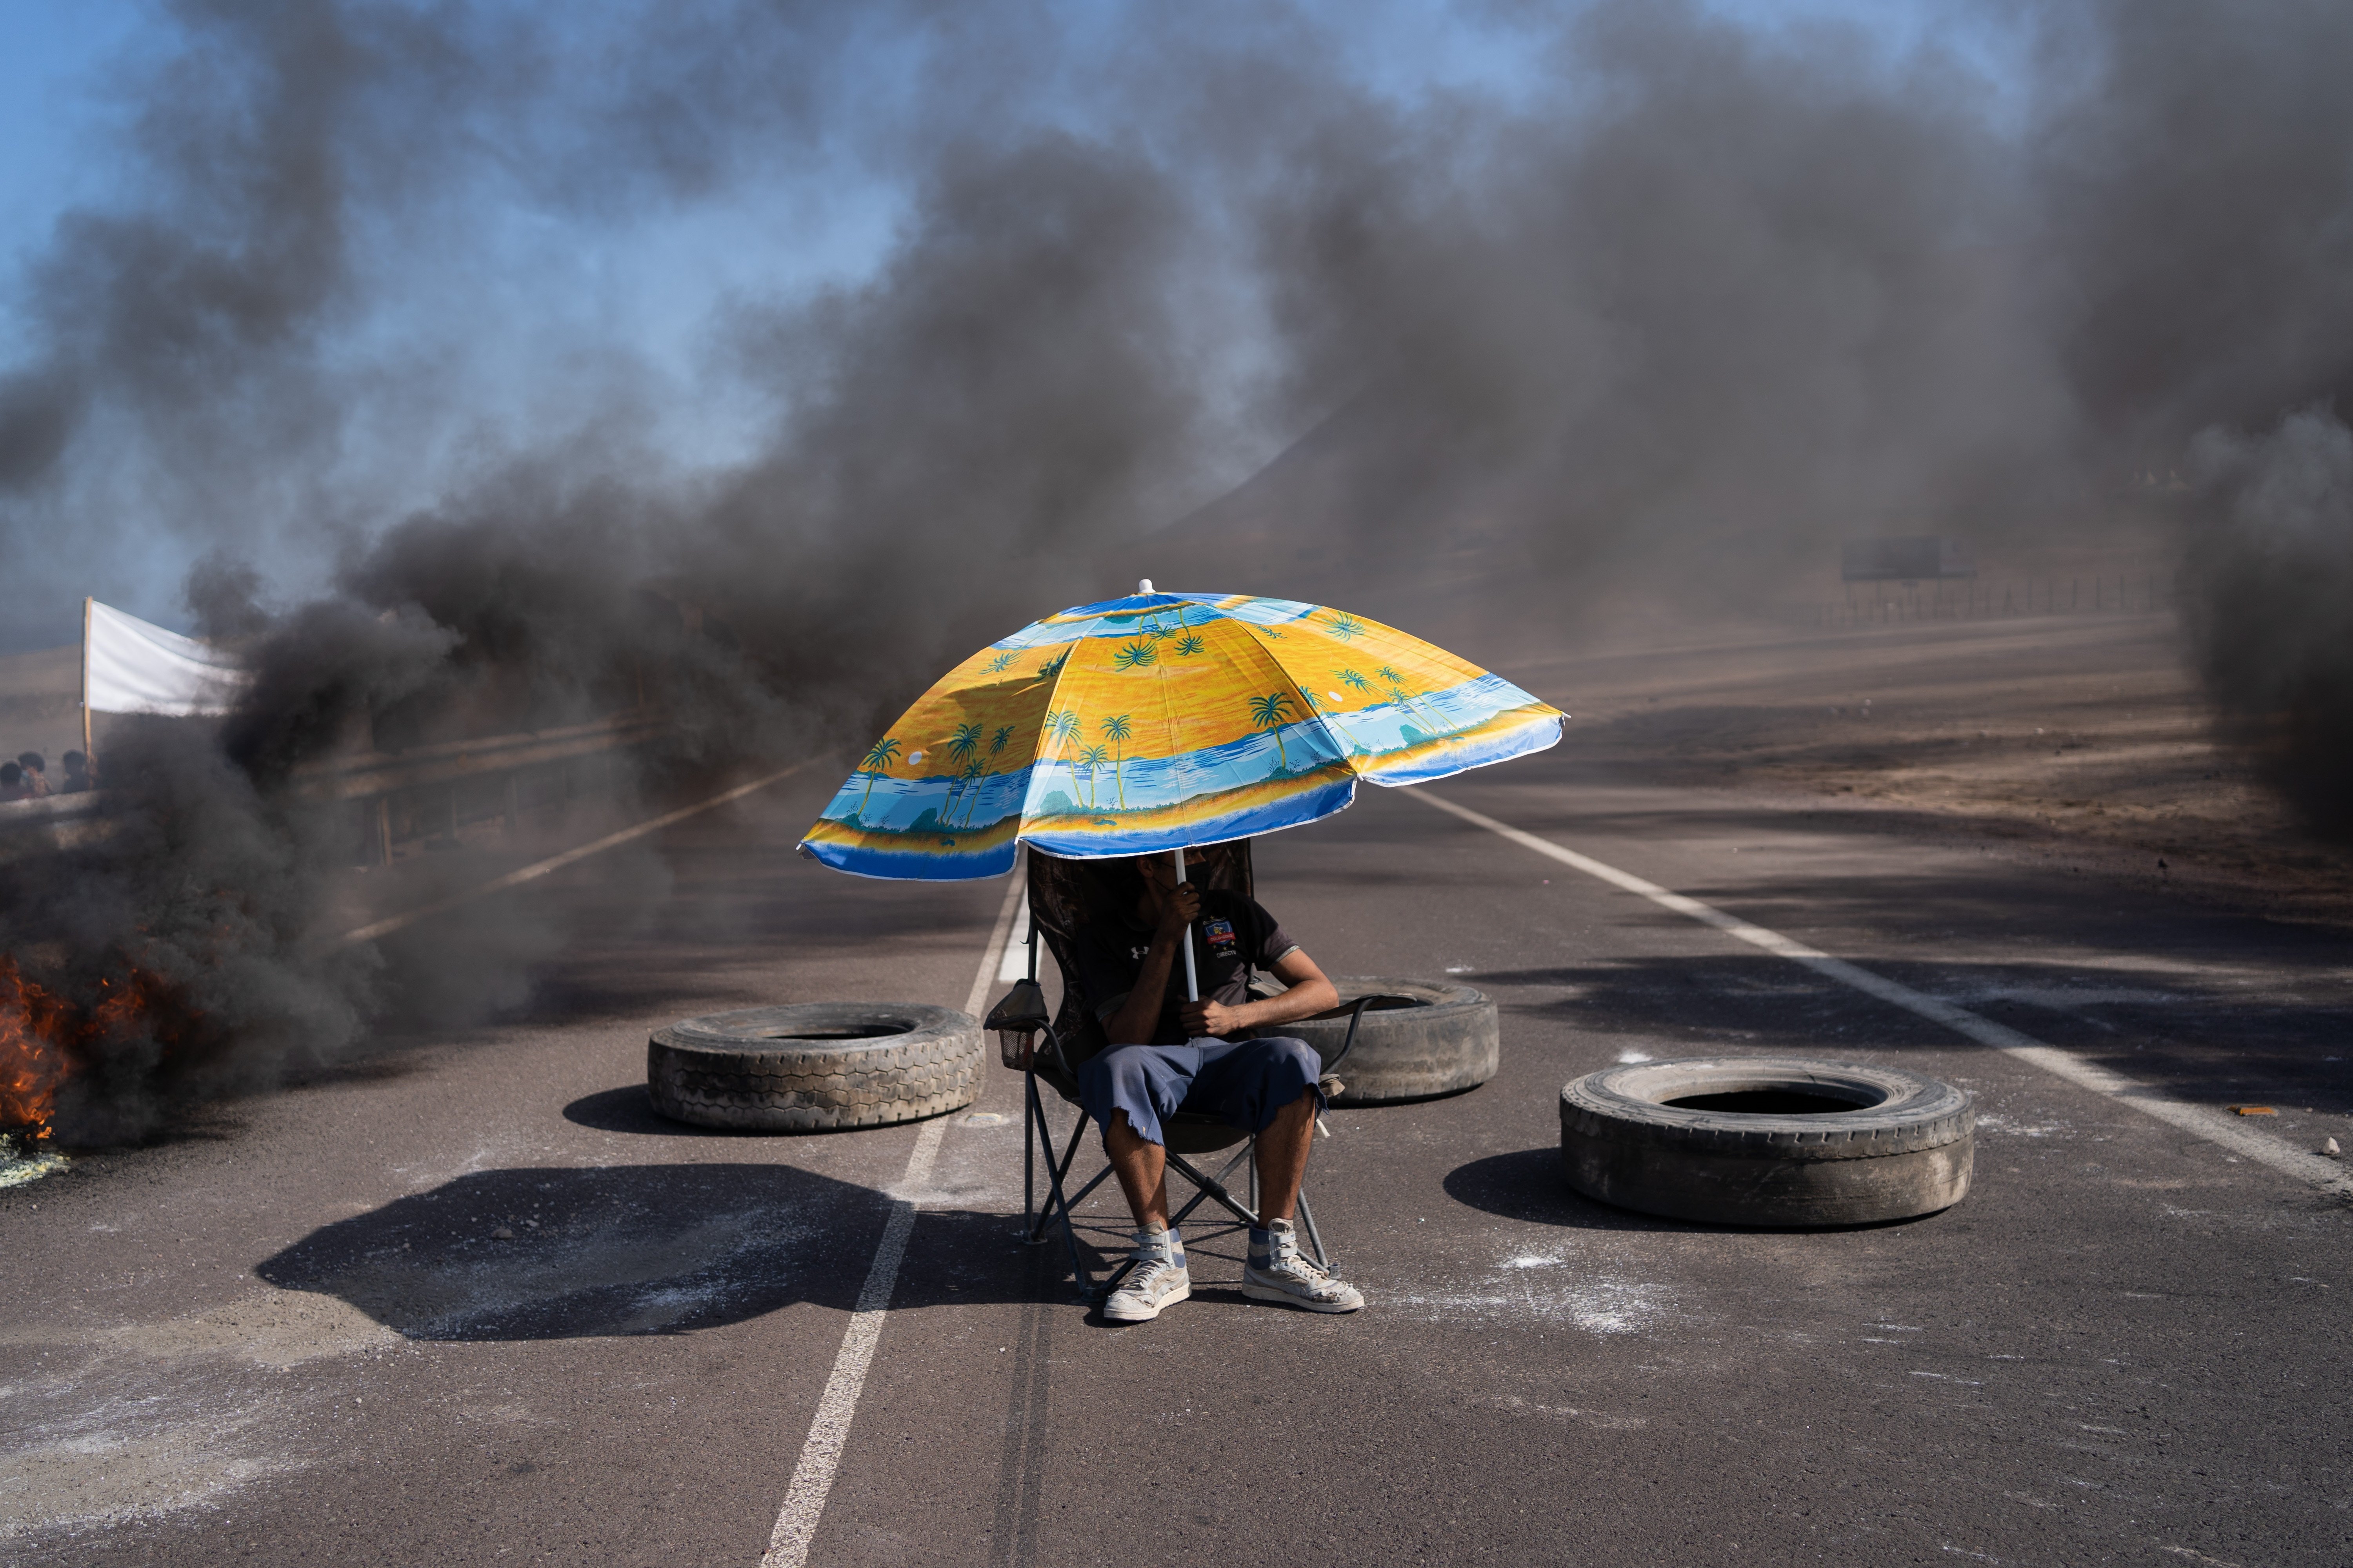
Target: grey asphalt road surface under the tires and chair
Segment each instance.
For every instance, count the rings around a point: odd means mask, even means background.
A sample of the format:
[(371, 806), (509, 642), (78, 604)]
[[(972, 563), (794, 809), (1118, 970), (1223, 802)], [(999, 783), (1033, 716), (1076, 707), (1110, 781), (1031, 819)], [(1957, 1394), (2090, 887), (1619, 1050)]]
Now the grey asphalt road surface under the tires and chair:
[[(918, 1128), (661, 1124), (645, 1034), (962, 1006), (1005, 891), (795, 860), (828, 788), (459, 917), (576, 933), (494, 1027), (0, 1194), (0, 1561), (758, 1563)], [(2353, 1147), (2353, 969), (2313, 929), (1569, 748), (1438, 790)], [(958, 1114), (812, 1563), (2353, 1561), (2344, 1201), (1398, 795), (1268, 839), (1259, 877), (1334, 973), (1504, 1009), (1492, 1084), (1318, 1143), (1369, 1307), (1247, 1302), (1240, 1239), (1195, 1227), (1195, 1298), (1106, 1328), (1014, 1244), (1019, 1124)], [(1974, 1192), (1753, 1234), (1562, 1190), (1562, 1081), (1751, 1051), (1972, 1088)], [(991, 1067), (974, 1110), (1016, 1088)]]

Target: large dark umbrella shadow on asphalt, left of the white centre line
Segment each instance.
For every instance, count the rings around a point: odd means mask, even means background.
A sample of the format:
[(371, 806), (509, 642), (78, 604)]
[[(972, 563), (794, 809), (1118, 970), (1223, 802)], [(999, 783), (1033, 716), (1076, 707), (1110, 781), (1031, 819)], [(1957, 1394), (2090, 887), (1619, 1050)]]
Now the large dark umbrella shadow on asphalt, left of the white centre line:
[(409, 1340), (687, 1333), (791, 1302), (847, 1309), (885, 1211), (871, 1187), (769, 1164), (478, 1171), (254, 1272)]

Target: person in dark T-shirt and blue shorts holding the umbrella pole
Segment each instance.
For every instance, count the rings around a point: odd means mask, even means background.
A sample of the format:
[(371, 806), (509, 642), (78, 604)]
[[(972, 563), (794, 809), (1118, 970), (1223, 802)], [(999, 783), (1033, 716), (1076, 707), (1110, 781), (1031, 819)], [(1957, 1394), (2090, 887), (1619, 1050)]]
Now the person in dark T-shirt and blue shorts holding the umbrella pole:
[[(1144, 1324), (1193, 1293), (1184, 1239), (1169, 1227), (1160, 1131), (1176, 1107), (1259, 1138), (1259, 1227), (1249, 1232), (1242, 1295), (1355, 1312), (1362, 1293), (1304, 1258), (1292, 1232), (1325, 1103), (1320, 1060), (1299, 1039), (1238, 1039), (1339, 1006), (1339, 990), (1254, 900), (1179, 884), (1172, 856), (1136, 856), (1134, 867), (1139, 886), (1127, 919), (1075, 933), (1080, 983), (1096, 999), (1111, 1041), (1080, 1065), (1080, 1100), (1104, 1128), (1104, 1152), (1136, 1215), (1136, 1267), (1104, 1302), (1104, 1316)], [(1179, 943), (1195, 922), (1202, 999), (1186, 1001)], [(1287, 990), (1252, 1001), (1249, 969), (1266, 969)]]

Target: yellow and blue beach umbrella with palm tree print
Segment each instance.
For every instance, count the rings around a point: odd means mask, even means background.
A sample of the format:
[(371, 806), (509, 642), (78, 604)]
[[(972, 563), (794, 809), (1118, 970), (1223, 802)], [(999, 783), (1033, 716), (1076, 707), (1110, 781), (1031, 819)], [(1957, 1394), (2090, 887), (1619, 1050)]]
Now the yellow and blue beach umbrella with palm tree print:
[(1419, 637), (1320, 604), (1153, 592), (993, 642), (906, 710), (800, 851), (953, 882), (1014, 846), (1075, 858), (1245, 839), (1541, 752), (1567, 715)]

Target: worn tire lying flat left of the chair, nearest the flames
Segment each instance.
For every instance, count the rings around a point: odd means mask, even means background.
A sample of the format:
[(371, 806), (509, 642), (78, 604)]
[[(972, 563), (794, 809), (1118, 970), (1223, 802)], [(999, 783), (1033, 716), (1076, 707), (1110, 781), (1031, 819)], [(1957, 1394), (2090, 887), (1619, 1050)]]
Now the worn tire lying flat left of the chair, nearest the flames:
[(708, 1013), (645, 1046), (654, 1110), (758, 1133), (889, 1126), (972, 1105), (981, 1025), (944, 1006), (798, 1001)]

